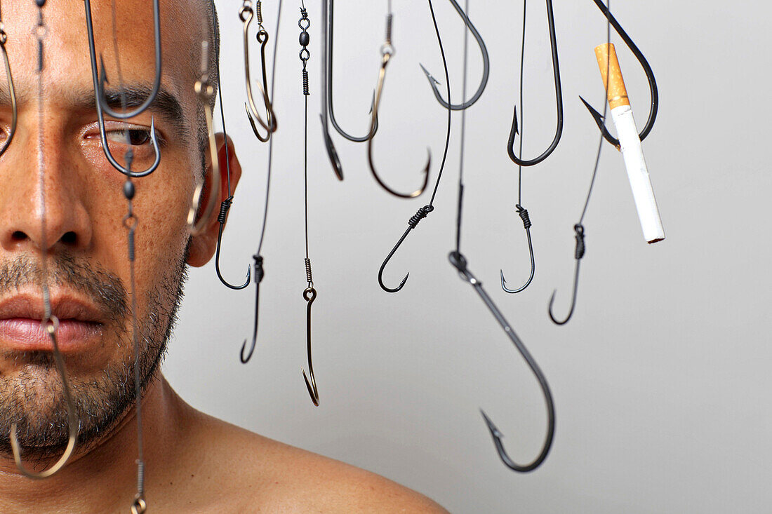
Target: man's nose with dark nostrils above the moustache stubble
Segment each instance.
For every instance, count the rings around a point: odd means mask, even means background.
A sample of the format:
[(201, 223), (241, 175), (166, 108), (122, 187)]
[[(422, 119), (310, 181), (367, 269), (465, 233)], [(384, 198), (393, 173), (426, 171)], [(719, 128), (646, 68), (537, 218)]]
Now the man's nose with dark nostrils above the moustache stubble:
[(86, 248), (92, 228), (76, 166), (68, 163), (65, 145), (57, 144), (56, 130), (46, 130), (51, 137), (43, 138), (38, 127), (25, 128), (0, 158), (0, 247)]

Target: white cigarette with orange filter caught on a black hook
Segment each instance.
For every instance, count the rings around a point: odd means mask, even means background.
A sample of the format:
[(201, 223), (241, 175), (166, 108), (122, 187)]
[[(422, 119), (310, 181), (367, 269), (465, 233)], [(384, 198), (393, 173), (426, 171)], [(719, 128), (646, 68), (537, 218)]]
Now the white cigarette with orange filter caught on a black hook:
[(620, 150), (625, 159), (643, 237), (649, 244), (662, 241), (665, 238), (665, 229), (662, 228), (662, 218), (659, 217), (652, 181), (648, 177), (641, 139), (635, 127), (635, 119), (632, 116), (625, 80), (622, 79), (614, 45), (604, 43), (596, 46), (595, 58), (598, 59), (598, 67), (601, 69), (603, 85), (608, 90), (608, 107), (611, 107), (611, 119), (614, 120), (614, 126), (617, 129)]

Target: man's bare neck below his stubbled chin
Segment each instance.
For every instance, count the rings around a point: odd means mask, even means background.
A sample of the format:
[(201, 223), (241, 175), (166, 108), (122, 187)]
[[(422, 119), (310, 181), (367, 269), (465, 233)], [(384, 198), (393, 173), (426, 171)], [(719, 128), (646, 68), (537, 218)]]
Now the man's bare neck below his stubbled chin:
[[(144, 438), (144, 460), (154, 475), (185, 448), (181, 428), (189, 410), (160, 373), (151, 380), (142, 421), (144, 433), (153, 435)], [(110, 434), (76, 449), (66, 467), (45, 480), (26, 478), (10, 455), (0, 458), (0, 512), (63, 512), (63, 506), (69, 512), (126, 512), (137, 492), (136, 421), (131, 409)]]

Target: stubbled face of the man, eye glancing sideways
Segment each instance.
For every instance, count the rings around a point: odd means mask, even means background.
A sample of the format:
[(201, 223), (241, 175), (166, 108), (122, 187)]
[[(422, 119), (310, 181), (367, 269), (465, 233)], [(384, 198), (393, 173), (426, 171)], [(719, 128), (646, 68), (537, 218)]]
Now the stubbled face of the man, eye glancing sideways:
[[(151, 2), (116, 3), (120, 79), (128, 90), (151, 90)], [(129, 147), (128, 129), (133, 169), (152, 163), (151, 117), (162, 154), (153, 174), (134, 181), (143, 375), (157, 364), (173, 323), (185, 260), (202, 264), (211, 256), (208, 246), (191, 242), (185, 229), (202, 162), (193, 90), (205, 34), (200, 11), (186, 5), (183, 12), (162, 2), (164, 101), (128, 125), (106, 120), (110, 149), (119, 162)], [(109, 90), (117, 93), (110, 1), (93, 0), (92, 12), (97, 55), (103, 56)], [(83, 0), (47, 2), (43, 19), (47, 30), (39, 89), (35, 2), (2, 5), (19, 122), (12, 144), (0, 157), (0, 451), (8, 451), (10, 424), (16, 422), (28, 457), (58, 451), (67, 436), (62, 380), (53, 364), (51, 340), (40, 326), (43, 281), (52, 314), (59, 318), (59, 349), (78, 404), (81, 441), (101, 435), (134, 400), (130, 264), (123, 222), (126, 178), (101, 147)], [(5, 76), (0, 83), (2, 141), (10, 130), (12, 109)]]

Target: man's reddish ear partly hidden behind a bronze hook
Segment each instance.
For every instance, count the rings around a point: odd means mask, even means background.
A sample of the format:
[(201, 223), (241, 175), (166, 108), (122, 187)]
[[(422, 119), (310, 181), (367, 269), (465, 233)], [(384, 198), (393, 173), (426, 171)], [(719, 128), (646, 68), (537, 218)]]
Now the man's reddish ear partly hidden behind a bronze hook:
[(220, 224), (217, 220), (218, 213), (220, 211), (220, 205), (222, 201), (228, 198), (228, 183), (230, 178), (231, 194), (235, 193), (236, 186), (239, 184), (239, 178), (241, 178), (241, 164), (239, 164), (239, 158), (236, 157), (235, 147), (233, 147), (233, 141), (229, 137), (227, 140), (225, 136), (221, 134), (215, 134), (217, 140), (217, 155), (218, 162), (220, 164), (220, 190), (211, 191), (212, 184), (212, 156), (209, 154), (209, 150), (206, 150), (206, 184), (204, 201), (201, 201), (201, 205), (206, 205), (206, 201), (215, 201), (215, 214), (212, 215), (212, 219), (209, 220), (206, 228), (199, 235), (195, 235), (191, 238), (190, 251), (188, 252), (188, 264), (194, 267), (200, 267), (205, 265), (215, 255), (217, 249), (217, 235), (220, 229)]

